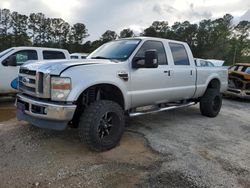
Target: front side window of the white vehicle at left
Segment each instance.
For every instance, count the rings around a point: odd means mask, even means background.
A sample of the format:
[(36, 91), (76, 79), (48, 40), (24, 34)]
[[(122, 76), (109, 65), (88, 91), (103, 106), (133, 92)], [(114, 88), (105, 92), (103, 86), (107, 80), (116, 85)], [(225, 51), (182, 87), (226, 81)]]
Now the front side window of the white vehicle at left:
[(20, 66), (24, 62), (29, 61), (29, 60), (38, 60), (36, 50), (21, 50), (12, 55), (16, 56), (17, 66)]

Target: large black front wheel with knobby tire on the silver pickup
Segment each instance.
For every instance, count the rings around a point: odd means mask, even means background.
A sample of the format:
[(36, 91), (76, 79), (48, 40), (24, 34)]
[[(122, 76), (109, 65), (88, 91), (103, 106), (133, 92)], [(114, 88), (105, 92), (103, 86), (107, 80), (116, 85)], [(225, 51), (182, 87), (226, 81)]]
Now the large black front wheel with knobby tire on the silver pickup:
[(80, 118), (80, 139), (95, 151), (114, 148), (123, 132), (124, 112), (113, 101), (100, 100), (92, 103)]

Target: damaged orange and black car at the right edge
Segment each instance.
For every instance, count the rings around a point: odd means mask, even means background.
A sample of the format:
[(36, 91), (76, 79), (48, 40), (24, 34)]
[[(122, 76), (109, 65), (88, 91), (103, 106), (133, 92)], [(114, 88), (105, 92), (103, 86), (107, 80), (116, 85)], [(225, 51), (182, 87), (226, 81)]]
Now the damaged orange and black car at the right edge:
[(229, 67), (227, 95), (250, 99), (250, 63)]

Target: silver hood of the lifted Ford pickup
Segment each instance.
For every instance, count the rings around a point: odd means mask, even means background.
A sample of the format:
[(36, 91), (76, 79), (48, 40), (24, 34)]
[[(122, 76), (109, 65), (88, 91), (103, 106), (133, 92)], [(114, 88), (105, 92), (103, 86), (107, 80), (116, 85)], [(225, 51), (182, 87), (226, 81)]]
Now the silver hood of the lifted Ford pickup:
[(64, 70), (70, 67), (96, 64), (115, 64), (115, 62), (106, 59), (30, 61), (22, 65), (21, 68), (60, 75)]

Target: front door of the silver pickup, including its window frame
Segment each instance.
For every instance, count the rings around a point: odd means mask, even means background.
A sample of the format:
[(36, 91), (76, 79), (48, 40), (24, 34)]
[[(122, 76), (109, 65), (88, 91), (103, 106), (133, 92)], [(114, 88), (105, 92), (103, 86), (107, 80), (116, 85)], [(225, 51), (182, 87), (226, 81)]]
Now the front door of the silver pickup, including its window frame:
[[(165, 48), (160, 41), (146, 41), (134, 58), (143, 59), (147, 50), (158, 53), (158, 68), (137, 68), (130, 72), (130, 95), (132, 107), (158, 104), (167, 101), (171, 82)], [(144, 60), (141, 60), (144, 61)]]

